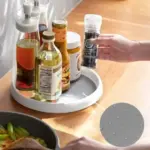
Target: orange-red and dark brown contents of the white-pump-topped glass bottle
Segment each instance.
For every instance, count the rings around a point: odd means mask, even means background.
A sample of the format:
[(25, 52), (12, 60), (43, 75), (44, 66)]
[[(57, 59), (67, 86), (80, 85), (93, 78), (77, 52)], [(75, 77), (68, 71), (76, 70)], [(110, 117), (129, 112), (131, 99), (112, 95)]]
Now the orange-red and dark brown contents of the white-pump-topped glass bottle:
[(35, 88), (35, 56), (39, 43), (37, 40), (22, 39), (17, 42), (17, 80), (19, 90), (34, 90)]

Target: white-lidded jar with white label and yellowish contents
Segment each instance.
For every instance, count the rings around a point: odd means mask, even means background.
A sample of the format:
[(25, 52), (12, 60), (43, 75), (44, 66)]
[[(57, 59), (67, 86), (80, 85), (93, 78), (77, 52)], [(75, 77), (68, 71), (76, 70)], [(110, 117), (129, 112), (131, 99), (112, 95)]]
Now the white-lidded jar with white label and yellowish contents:
[(79, 34), (67, 32), (67, 50), (70, 56), (70, 81), (75, 81), (81, 76), (81, 38)]

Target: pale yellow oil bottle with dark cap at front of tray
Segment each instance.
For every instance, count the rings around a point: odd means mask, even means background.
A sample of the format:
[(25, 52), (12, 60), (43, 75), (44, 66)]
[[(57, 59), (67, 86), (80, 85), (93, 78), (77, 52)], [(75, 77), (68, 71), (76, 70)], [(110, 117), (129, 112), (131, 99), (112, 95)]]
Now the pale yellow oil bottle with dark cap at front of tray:
[(43, 32), (43, 44), (36, 58), (37, 91), (46, 101), (55, 102), (62, 93), (62, 56), (53, 32)]

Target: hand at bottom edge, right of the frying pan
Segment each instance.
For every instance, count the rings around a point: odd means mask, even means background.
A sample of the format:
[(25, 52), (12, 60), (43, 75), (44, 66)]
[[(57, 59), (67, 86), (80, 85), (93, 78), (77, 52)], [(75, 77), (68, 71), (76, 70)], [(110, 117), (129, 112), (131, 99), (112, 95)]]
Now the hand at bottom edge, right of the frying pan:
[(115, 150), (115, 148), (103, 145), (89, 138), (79, 138), (69, 143), (61, 150)]

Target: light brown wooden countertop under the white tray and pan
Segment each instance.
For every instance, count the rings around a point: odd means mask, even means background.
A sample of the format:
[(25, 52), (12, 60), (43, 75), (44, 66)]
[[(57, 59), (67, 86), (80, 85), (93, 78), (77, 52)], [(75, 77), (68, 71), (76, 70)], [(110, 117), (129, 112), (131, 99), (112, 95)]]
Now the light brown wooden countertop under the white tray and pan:
[[(102, 33), (118, 33), (133, 40), (150, 39), (149, 0), (83, 0), (69, 15), (69, 30), (84, 34), (86, 13), (103, 16)], [(150, 62), (115, 63), (99, 61), (96, 69), (104, 84), (104, 94), (94, 106), (70, 114), (44, 114), (24, 108), (10, 96), (11, 73), (0, 79), (0, 110), (20, 111), (41, 118), (57, 130), (61, 145), (88, 136), (104, 142), (99, 132), (100, 116), (113, 103), (135, 105), (145, 119), (140, 142), (150, 139)]]

